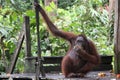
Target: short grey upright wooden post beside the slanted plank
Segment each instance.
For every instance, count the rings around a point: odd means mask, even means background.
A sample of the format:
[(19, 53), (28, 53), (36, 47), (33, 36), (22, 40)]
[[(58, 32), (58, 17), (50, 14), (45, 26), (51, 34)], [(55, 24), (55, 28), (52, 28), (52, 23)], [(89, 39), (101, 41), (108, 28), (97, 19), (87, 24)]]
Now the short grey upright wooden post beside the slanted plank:
[(26, 54), (25, 54), (25, 73), (35, 72), (35, 60), (29, 59), (31, 57), (31, 39), (30, 39), (30, 19), (28, 16), (24, 16), (24, 31), (26, 42)]

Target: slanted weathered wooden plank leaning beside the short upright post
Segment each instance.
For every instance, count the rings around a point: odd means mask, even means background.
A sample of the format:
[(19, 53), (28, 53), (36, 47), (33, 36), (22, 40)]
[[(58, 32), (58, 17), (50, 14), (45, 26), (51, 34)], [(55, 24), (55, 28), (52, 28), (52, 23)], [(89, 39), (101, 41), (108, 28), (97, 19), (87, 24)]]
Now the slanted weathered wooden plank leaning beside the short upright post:
[(11, 65), (10, 65), (10, 68), (9, 68), (9, 71), (8, 71), (8, 73), (10, 73), (10, 74), (13, 73), (13, 70), (15, 68), (15, 65), (16, 65), (21, 47), (22, 47), (23, 40), (24, 40), (24, 30), (22, 28), (22, 30), (20, 32), (20, 35), (19, 35), (19, 38), (18, 38), (16, 49), (14, 51), (14, 57), (12, 59), (12, 62), (11, 62)]

